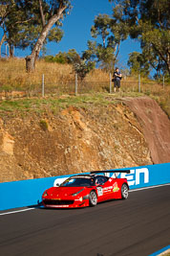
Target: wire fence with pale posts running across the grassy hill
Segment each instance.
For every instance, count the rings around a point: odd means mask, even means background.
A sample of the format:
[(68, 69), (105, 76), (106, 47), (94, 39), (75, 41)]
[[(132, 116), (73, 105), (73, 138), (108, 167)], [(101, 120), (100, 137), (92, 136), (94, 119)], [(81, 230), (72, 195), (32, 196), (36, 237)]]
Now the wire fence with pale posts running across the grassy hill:
[[(9, 85), (10, 84), (10, 85)], [(121, 80), (120, 89), (122, 92), (143, 92), (149, 95), (150, 92), (157, 92), (165, 90), (166, 85), (164, 81), (158, 84), (154, 81), (142, 81), (140, 76), (138, 80), (134, 81), (131, 78), (123, 78)], [(7, 78), (6, 75), (0, 77), (0, 100), (13, 99), (21, 97), (45, 97), (49, 95), (79, 95), (93, 92), (114, 92), (114, 82), (110, 74), (106, 81), (80, 81), (77, 75), (74, 79), (55, 80), (52, 76), (42, 74), (38, 81), (33, 80), (32, 77), (22, 78), (20, 75), (12, 81), (11, 76)]]

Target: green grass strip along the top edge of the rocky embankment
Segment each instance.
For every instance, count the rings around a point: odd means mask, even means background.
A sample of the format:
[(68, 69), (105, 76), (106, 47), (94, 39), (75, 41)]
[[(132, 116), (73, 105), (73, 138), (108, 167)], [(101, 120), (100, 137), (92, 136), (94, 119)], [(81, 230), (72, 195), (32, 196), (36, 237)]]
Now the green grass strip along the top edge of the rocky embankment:
[[(8, 114), (10, 116), (20, 115), (21, 117), (24, 117), (31, 113), (41, 114), (48, 111), (53, 112), (53, 114), (57, 114), (61, 109), (67, 108), (71, 105), (82, 108), (90, 108), (93, 105), (117, 105), (117, 103), (120, 103), (121, 99), (124, 97), (140, 97), (144, 95), (145, 94), (138, 92), (121, 91), (113, 94), (93, 93), (77, 96), (65, 95), (60, 97), (53, 95), (46, 98), (6, 100), (0, 102), (0, 116)], [(159, 96), (153, 96), (152, 98), (155, 98), (159, 105), (169, 115), (170, 109), (168, 102), (164, 99), (160, 100)]]

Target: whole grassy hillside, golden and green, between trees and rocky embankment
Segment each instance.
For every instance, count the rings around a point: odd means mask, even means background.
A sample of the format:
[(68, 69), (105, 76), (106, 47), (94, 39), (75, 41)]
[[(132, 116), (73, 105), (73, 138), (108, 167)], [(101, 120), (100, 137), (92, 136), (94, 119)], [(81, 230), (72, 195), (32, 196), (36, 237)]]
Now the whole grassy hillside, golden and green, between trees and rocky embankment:
[[(43, 74), (45, 77), (45, 101), (40, 99)], [(25, 94), (21, 93), (20, 96), (27, 96), (29, 100), (22, 100), (18, 103), (16, 101), (15, 103), (1, 102), (0, 109), (2, 111), (3, 109), (26, 108), (27, 111), (30, 111), (34, 108), (32, 105), (36, 105), (35, 109), (41, 108), (42, 105), (43, 107), (44, 105), (49, 105), (49, 107), (55, 109), (72, 104), (82, 105), (86, 101), (107, 102), (106, 98), (110, 97), (110, 94), (108, 94), (110, 91), (109, 73), (96, 69), (88, 74), (83, 82), (78, 81), (78, 94), (83, 95), (76, 97), (74, 97), (74, 77), (72, 65), (69, 64), (47, 63), (41, 59), (36, 63), (36, 71), (28, 74), (25, 69), (25, 59), (1, 58), (0, 99), (7, 100), (14, 98), (15, 95), (17, 96), (16, 93), (11, 94), (11, 91), (25, 91)], [(121, 92), (112, 94), (112, 97), (137, 97), (143, 94), (157, 100), (162, 109), (170, 116), (170, 86), (168, 84), (165, 84), (163, 88), (162, 84), (158, 84), (156, 81), (141, 78), (141, 92), (138, 93), (138, 78), (123, 78), (121, 81)], [(59, 98), (57, 97), (56, 99), (56, 95)], [(61, 100), (60, 98), (63, 98), (63, 95), (65, 97)], [(32, 97), (38, 97), (38, 99), (32, 100)], [(52, 99), (50, 100), (50, 98)]]

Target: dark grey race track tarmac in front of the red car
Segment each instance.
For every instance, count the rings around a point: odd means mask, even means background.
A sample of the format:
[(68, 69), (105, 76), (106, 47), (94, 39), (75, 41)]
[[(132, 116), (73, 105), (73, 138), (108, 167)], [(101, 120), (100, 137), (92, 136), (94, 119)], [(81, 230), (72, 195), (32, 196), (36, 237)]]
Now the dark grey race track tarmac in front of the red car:
[(170, 244), (170, 186), (73, 210), (0, 216), (1, 256), (145, 256)]

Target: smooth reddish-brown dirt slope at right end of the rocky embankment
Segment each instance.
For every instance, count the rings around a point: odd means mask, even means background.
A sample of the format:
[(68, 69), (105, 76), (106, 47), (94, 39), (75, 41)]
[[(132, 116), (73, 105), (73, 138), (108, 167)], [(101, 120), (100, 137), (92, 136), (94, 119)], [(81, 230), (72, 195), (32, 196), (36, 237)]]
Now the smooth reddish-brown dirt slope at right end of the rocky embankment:
[(149, 97), (126, 98), (137, 115), (154, 164), (170, 162), (170, 121), (156, 101)]

